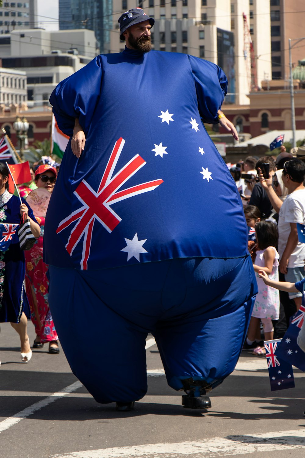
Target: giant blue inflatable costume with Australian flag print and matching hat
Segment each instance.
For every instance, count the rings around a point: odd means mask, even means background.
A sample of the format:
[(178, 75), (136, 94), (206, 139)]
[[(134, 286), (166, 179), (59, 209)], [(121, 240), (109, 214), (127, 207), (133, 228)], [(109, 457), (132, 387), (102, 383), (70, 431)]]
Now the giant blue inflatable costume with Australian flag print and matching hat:
[[(119, 23), (154, 20), (134, 9)], [(75, 158), (69, 142), (48, 207), (49, 303), (97, 402), (144, 396), (147, 333), (186, 407), (209, 407), (200, 396), (235, 368), (257, 285), (239, 193), (201, 121), (218, 122), (226, 86), (208, 61), (127, 46), (51, 95), (59, 128), (72, 136), (78, 118), (86, 145)]]

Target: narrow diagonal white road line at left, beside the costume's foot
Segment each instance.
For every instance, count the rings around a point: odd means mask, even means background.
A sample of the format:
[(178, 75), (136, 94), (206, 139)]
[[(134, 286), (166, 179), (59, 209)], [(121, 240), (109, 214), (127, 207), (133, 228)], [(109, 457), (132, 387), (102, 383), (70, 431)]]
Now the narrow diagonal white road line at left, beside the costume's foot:
[(57, 399), (63, 398), (67, 394), (72, 393), (73, 391), (77, 390), (82, 386), (82, 383), (80, 383), (79, 381), (74, 382), (72, 383), (72, 385), (65, 387), (57, 393), (51, 394), (51, 396), (48, 396), (48, 398), (44, 398), (41, 401), (38, 401), (37, 403), (32, 404), (29, 407), (26, 407), (26, 409), (21, 410), (17, 414), (14, 414), (13, 416), (6, 418), (5, 420), (0, 422), (0, 433), (2, 431), (9, 429), (11, 426), (16, 425), (16, 423), (21, 421), (23, 418), (27, 418), (29, 415), (36, 412), (36, 410), (40, 410), (43, 407), (46, 407), (48, 404), (56, 401)]

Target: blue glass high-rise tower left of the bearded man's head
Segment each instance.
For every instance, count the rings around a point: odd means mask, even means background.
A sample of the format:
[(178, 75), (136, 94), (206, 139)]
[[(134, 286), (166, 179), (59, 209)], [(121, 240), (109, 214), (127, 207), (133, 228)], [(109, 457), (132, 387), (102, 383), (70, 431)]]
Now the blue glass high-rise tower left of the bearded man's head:
[(59, 0), (59, 28), (93, 30), (101, 52), (109, 52), (112, 0)]

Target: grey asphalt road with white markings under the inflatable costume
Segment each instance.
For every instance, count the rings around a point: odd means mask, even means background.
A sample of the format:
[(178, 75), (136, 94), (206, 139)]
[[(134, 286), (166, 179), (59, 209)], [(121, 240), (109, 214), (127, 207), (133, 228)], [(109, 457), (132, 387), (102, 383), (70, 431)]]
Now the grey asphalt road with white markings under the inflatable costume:
[[(29, 333), (32, 342), (31, 323)], [(134, 411), (121, 413), (94, 401), (62, 351), (35, 350), (23, 364), (18, 344), (10, 324), (1, 324), (1, 458), (304, 457), (301, 371), (294, 370), (295, 388), (272, 393), (265, 357), (243, 352), (233, 374), (210, 394), (211, 409), (183, 409), (182, 393), (167, 386), (152, 345), (148, 393)]]

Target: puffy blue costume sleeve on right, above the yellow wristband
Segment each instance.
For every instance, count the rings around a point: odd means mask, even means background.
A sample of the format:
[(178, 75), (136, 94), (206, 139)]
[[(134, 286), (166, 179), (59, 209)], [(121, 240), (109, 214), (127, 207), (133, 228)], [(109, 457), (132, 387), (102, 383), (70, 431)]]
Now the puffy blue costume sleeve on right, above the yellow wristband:
[(227, 93), (224, 71), (208, 60), (187, 55), (193, 71), (198, 108), (203, 122), (217, 124), (217, 112)]

